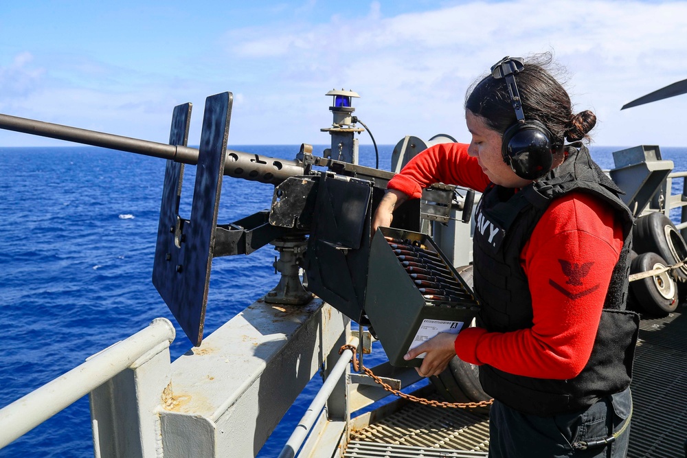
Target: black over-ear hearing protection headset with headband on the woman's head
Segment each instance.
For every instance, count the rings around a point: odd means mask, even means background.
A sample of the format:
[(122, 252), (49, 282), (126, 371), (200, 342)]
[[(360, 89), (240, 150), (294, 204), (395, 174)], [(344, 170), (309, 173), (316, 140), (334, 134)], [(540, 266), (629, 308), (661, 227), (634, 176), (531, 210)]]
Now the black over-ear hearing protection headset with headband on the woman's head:
[(491, 67), (491, 75), (506, 78), (510, 103), (515, 109), (517, 122), (504, 132), (501, 154), (520, 178), (536, 180), (551, 170), (554, 146), (551, 133), (539, 121), (526, 121), (522, 111), (520, 93), (515, 83), (515, 73), (525, 67), (521, 57), (506, 56)]

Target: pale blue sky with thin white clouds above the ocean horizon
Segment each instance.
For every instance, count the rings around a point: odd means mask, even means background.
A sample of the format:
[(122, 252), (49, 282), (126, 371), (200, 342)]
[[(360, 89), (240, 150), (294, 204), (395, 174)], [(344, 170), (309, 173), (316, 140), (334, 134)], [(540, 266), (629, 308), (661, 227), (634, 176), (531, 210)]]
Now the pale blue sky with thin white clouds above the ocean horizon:
[[(469, 84), (505, 55), (553, 51), (595, 144), (686, 146), (687, 1), (0, 3), (0, 113), (165, 142), (172, 108), (234, 93), (229, 145), (328, 144), (330, 89), (357, 91), (380, 144), (469, 141)], [(361, 143), (370, 143), (361, 135)], [(65, 145), (0, 130), (0, 146)]]

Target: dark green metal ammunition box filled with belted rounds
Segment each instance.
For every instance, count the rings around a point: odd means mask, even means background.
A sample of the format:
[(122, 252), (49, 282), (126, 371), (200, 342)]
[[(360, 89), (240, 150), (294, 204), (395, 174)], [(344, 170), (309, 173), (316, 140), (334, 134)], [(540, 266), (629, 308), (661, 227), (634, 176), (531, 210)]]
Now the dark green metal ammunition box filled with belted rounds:
[(449, 323), (466, 328), (479, 310), (473, 291), (431, 237), (387, 227), (376, 230), (370, 245), (365, 314), (392, 365), (419, 367), (422, 359), (403, 359), (418, 331), (425, 334), (427, 328), (450, 327)]

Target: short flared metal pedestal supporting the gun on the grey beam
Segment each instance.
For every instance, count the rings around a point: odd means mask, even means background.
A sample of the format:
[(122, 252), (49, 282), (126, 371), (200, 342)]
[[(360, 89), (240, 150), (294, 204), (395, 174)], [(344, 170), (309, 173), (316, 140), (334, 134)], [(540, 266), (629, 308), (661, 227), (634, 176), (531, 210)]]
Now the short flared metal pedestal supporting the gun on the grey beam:
[(299, 271), (302, 255), (306, 250), (308, 241), (304, 236), (287, 236), (273, 240), (271, 244), (279, 252), (279, 259), (273, 266), (275, 271), (282, 274), (279, 283), (264, 297), (268, 304), (304, 305), (313, 299), (313, 294), (308, 293), (301, 283)]

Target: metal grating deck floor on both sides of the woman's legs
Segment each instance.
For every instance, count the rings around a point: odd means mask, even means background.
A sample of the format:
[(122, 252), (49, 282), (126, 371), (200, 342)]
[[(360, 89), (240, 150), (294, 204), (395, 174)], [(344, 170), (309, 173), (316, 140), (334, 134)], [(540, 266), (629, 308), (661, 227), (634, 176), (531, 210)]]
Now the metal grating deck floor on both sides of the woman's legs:
[[(662, 319), (642, 319), (635, 352), (634, 411), (628, 457), (685, 456), (687, 304)], [(431, 386), (427, 398), (436, 398)], [(352, 420), (344, 457), (486, 457), (488, 415), (399, 399)]]

